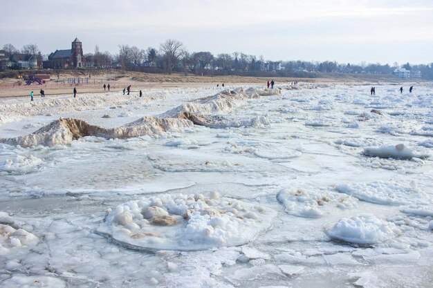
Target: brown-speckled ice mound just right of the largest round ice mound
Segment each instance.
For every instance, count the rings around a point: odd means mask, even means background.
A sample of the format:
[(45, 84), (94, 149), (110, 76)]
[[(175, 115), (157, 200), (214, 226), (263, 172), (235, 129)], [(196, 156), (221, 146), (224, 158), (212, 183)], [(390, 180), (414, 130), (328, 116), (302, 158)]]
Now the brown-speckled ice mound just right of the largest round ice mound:
[(305, 218), (320, 218), (331, 213), (335, 206), (351, 209), (358, 205), (358, 200), (350, 196), (302, 189), (282, 189), (277, 193), (277, 200), (284, 206), (286, 213)]

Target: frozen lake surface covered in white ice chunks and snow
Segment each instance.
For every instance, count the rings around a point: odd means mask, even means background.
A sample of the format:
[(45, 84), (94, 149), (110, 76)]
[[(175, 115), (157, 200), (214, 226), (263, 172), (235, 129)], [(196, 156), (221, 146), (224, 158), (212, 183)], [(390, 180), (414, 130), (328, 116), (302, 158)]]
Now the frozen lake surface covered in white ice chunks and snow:
[(433, 287), (433, 84), (229, 88), (1, 99), (0, 139), (218, 121), (0, 143), (0, 287)]

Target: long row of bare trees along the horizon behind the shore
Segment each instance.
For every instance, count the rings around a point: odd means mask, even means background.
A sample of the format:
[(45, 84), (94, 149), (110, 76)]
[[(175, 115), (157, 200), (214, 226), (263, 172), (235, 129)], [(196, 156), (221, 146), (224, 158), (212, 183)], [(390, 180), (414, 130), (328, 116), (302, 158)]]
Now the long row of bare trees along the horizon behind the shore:
[[(3, 46), (10, 55), (22, 52), (39, 55), (41, 51), (36, 44), (23, 46), (21, 50), (12, 44)], [(425, 79), (433, 79), (433, 63), (403, 66), (389, 64), (339, 64), (336, 61), (265, 61), (263, 56), (246, 55), (243, 52), (231, 54), (221, 53), (212, 55), (208, 51), (188, 52), (181, 41), (168, 39), (160, 44), (159, 48), (149, 47), (140, 49), (136, 46), (119, 45), (116, 55), (109, 52), (100, 52), (95, 47), (93, 53), (85, 55), (93, 59), (93, 65), (99, 68), (120, 67), (124, 70), (136, 68), (156, 68), (171, 74), (173, 71), (190, 72), (195, 74), (212, 74), (217, 71), (234, 71), (241, 75), (246, 73), (259, 73), (261, 71), (284, 71), (285, 73), (356, 73), (356, 74), (392, 74), (396, 68), (419, 70)], [(46, 56), (45, 56), (46, 57)], [(151, 72), (149, 70), (149, 72)]]

